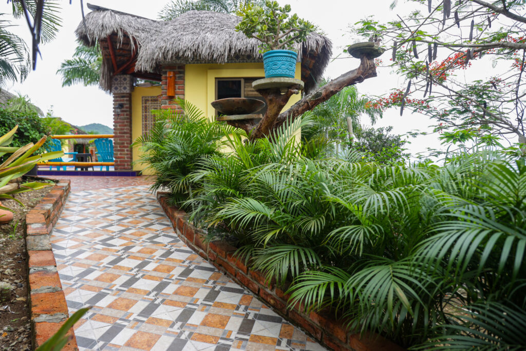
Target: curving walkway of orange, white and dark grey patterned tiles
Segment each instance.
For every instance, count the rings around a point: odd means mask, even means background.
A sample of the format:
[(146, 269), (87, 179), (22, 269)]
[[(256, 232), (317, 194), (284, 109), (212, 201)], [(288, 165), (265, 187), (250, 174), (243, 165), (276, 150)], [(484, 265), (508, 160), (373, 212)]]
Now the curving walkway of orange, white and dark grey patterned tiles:
[(134, 182), (74, 190), (52, 233), (70, 314), (94, 306), (80, 350), (324, 350), (192, 252)]

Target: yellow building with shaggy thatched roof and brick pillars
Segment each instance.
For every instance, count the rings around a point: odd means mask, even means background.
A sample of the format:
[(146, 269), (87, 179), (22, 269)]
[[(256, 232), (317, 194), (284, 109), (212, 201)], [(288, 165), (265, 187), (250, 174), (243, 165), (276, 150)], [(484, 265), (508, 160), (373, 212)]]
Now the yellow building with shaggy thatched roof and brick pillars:
[[(130, 145), (153, 125), (153, 109), (180, 111), (176, 99), (181, 98), (214, 118), (216, 111), (210, 103), (218, 98), (262, 99), (252, 89), (252, 82), (265, 76), (259, 43), (235, 31), (239, 17), (190, 11), (164, 22), (99, 6), (89, 8), (92, 12), (76, 33), (85, 45), (100, 45), (103, 53), (100, 87), (114, 98), (116, 170), (132, 169), (139, 154)], [(325, 36), (311, 34), (295, 49), (295, 76), (308, 93), (329, 62), (331, 43)], [(292, 96), (285, 108), (299, 98)], [(133, 166), (136, 171), (143, 168)]]

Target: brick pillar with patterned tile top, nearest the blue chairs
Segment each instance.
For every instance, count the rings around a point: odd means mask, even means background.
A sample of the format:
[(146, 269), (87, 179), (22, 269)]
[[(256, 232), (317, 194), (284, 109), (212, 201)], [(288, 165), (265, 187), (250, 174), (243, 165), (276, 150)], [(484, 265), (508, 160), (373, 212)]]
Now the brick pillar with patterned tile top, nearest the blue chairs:
[[(113, 77), (113, 149), (115, 170), (131, 169), (131, 92), (133, 77)], [(122, 105), (120, 105), (122, 104)], [(118, 107), (122, 106), (122, 107)]]

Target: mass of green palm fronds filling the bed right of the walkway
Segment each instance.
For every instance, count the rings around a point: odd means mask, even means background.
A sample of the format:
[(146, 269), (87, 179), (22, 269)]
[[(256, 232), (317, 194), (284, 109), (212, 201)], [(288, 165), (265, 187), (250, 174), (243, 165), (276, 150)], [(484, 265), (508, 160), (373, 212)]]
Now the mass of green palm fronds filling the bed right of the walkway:
[(226, 135), (226, 154), (177, 146), (193, 163), (151, 144), (155, 164), (162, 153), (178, 172), (176, 182), (161, 173), (156, 188), (171, 189), (210, 239), (230, 240), (249, 266), (288, 286), (290, 305), (327, 308), (353, 332), (404, 347), (524, 348), (524, 159), (490, 151), (443, 166), (380, 165), (356, 151), (307, 158), (295, 135), (312, 123), (297, 118), (248, 143)]

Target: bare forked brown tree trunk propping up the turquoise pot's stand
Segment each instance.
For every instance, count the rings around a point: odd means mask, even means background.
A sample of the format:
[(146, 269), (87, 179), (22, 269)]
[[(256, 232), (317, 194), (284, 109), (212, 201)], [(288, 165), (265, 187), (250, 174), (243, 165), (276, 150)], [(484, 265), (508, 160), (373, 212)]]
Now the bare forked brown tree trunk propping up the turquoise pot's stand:
[(267, 113), (252, 129), (250, 133), (250, 140), (253, 141), (258, 138), (269, 136), (272, 131), (279, 128), (289, 119), (294, 121), (298, 116), (301, 116), (312, 108), (327, 101), (331, 96), (337, 94), (341, 89), (349, 85), (361, 83), (367, 78), (376, 77), (376, 64), (373, 58), (368, 58), (367, 55), (362, 55), (360, 59), (360, 66), (347, 73), (342, 74), (336, 79), (332, 79), (326, 85), (319, 87), (313, 93), (305, 96), (296, 104), (292, 105), (287, 111), (281, 112), (281, 109), (287, 104), (290, 96), (297, 93), (298, 87), (292, 86), (285, 94), (281, 94), (279, 89), (262, 89), (258, 93), (261, 94), (267, 101)]

